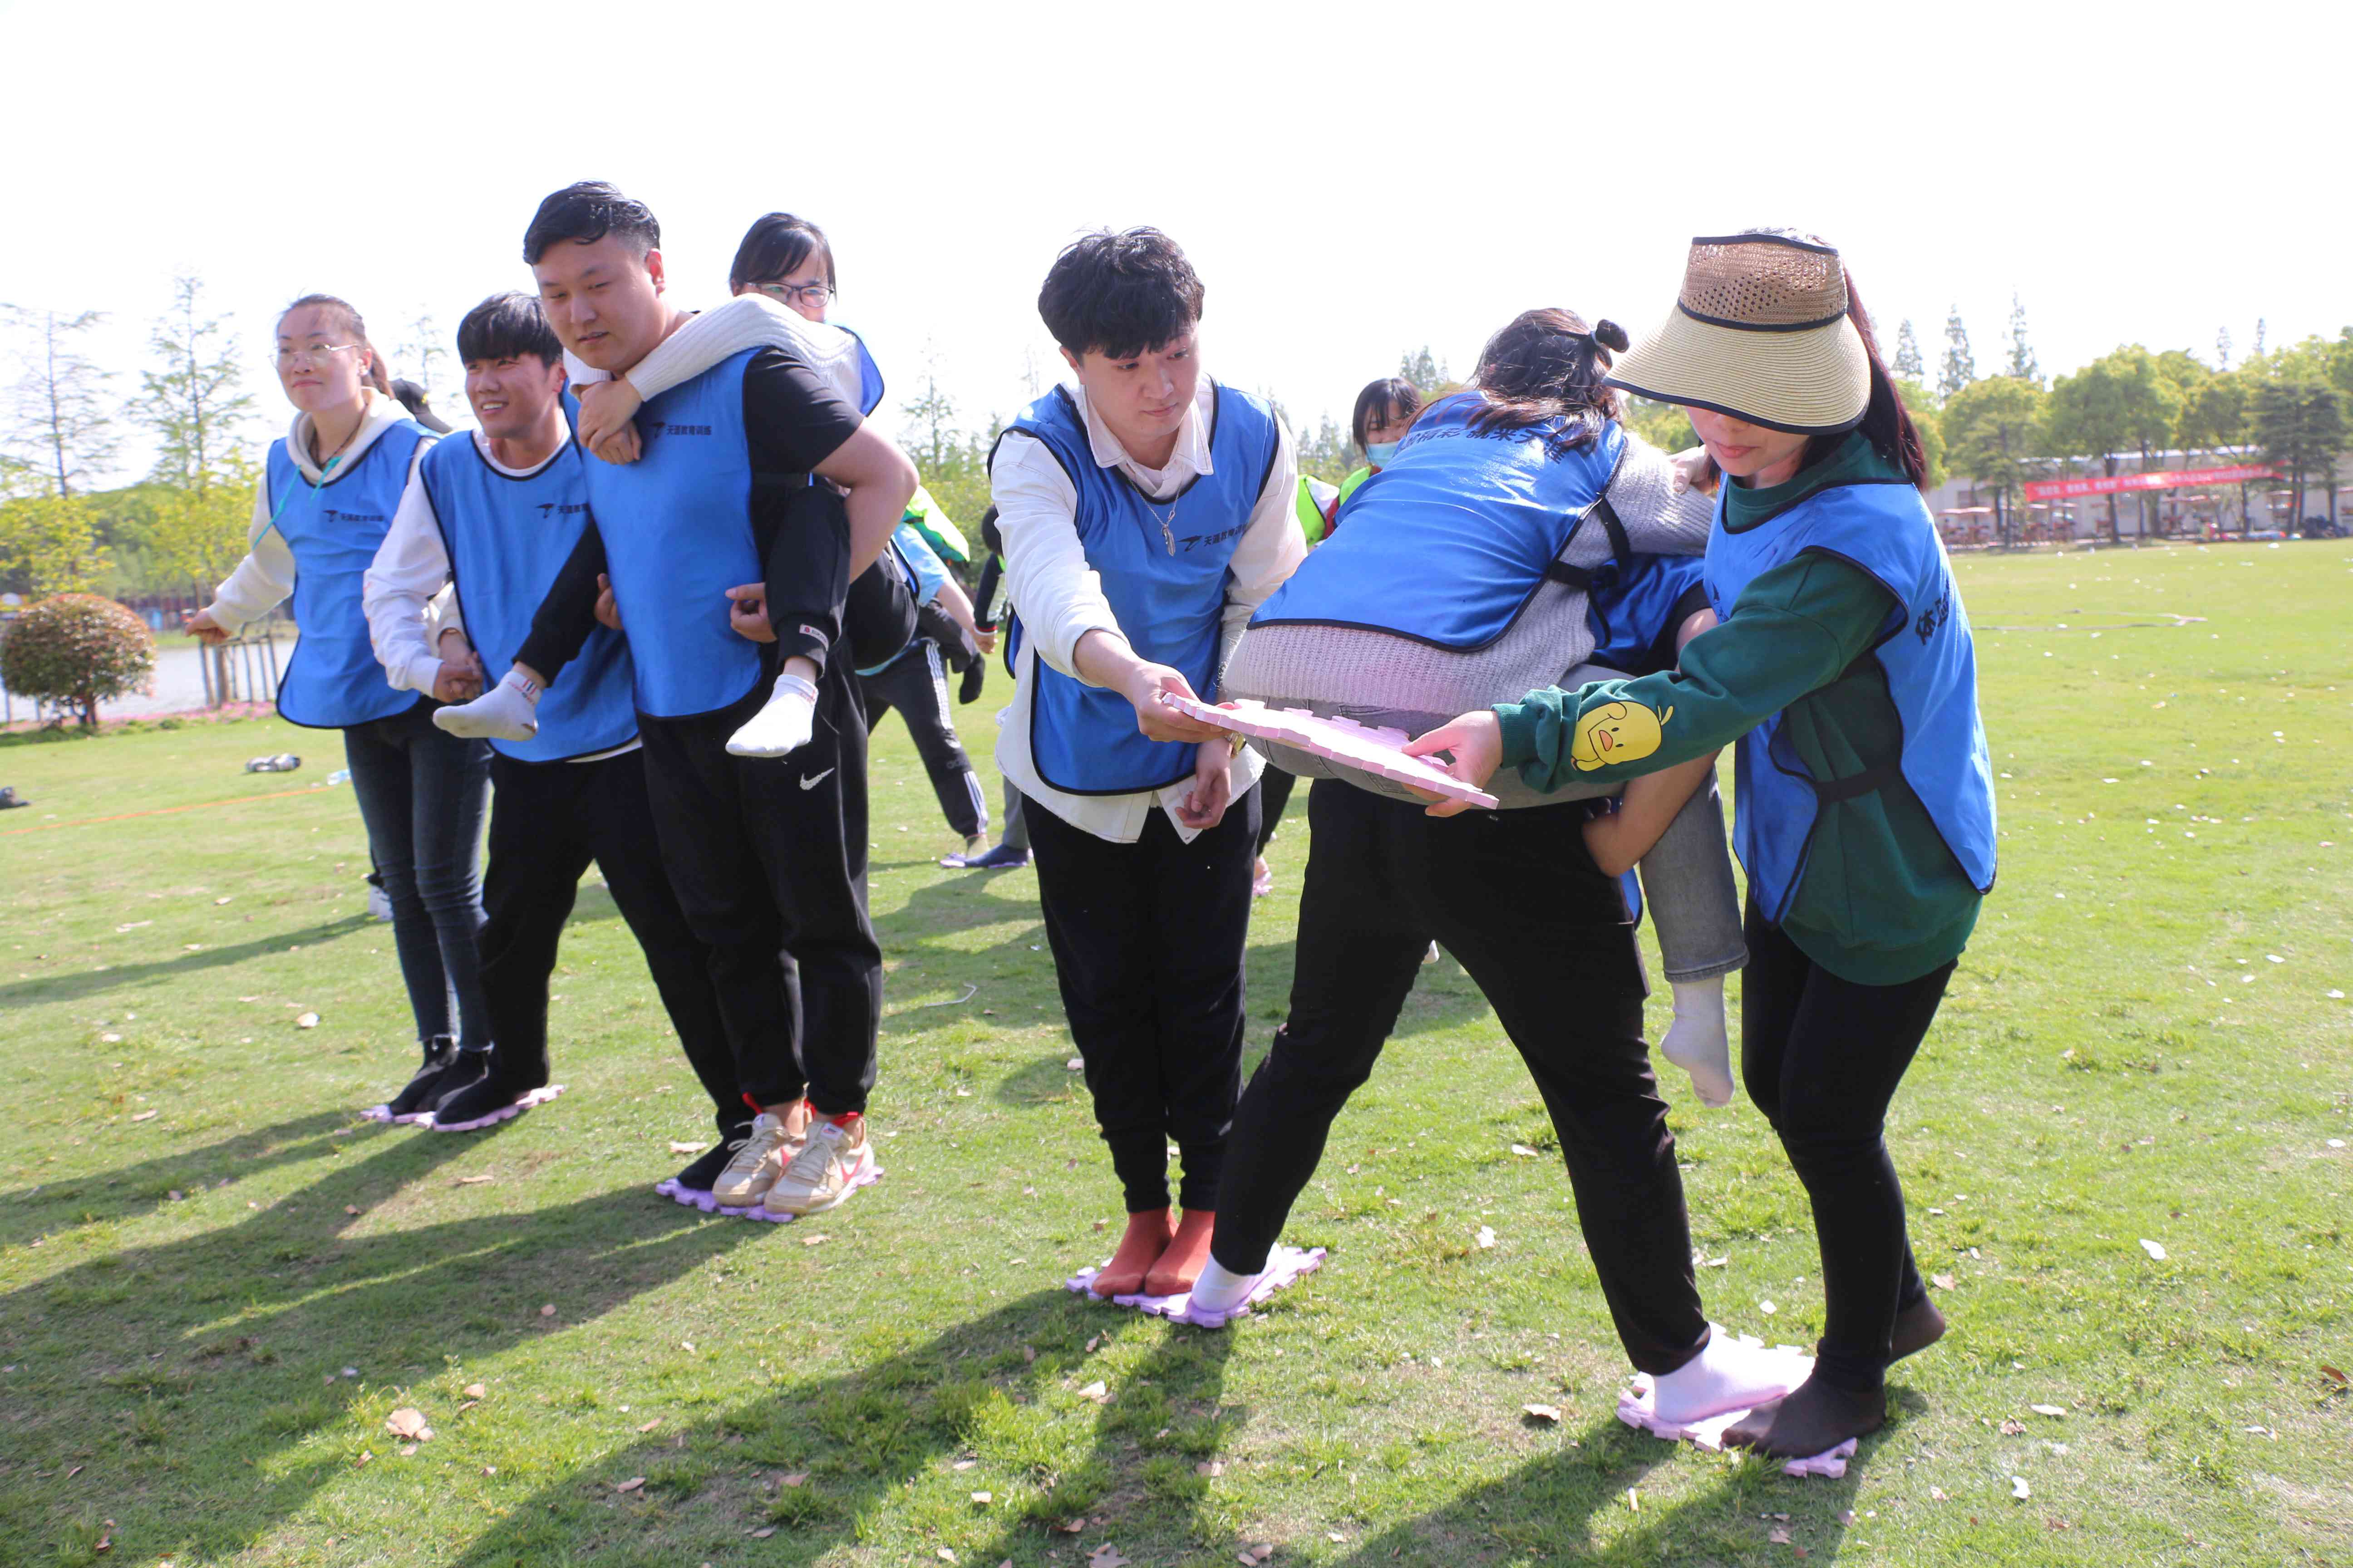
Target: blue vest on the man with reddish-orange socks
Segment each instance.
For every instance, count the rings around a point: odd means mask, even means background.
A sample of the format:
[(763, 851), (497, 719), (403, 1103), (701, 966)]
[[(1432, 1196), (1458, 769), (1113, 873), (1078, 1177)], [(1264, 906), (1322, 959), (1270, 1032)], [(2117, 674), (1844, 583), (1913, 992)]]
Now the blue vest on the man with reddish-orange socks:
[[(1118, 468), (1096, 465), (1087, 421), (1066, 390), (1054, 388), (1012, 423), (1012, 430), (1045, 442), (1071, 475), (1078, 541), (1104, 583), (1120, 635), (1141, 658), (1181, 670), (1209, 703), (1217, 701), (1226, 564), (1282, 449), (1273, 409), (1231, 386), (1214, 390), (1212, 473), (1160, 503), (1148, 503)], [(1033, 670), (1031, 759), (1052, 788), (1064, 795), (1132, 795), (1165, 790), (1193, 773), (1193, 745), (1144, 736), (1136, 710), (1118, 691), (1073, 679), (1042, 658)]]

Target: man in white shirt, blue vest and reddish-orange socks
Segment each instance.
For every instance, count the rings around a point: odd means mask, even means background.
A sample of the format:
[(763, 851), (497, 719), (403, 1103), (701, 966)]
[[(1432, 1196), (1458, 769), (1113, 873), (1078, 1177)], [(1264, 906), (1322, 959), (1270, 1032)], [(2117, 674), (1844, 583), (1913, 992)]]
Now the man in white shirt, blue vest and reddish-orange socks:
[(1160, 693), (1217, 701), (1249, 611), (1306, 557), (1289, 433), (1202, 374), (1200, 308), (1160, 230), (1075, 240), (1038, 292), (1075, 386), (988, 456), (1014, 604), (998, 766), (1021, 790), (1054, 976), (1127, 1201), (1099, 1295), (1191, 1288), (1242, 1072), (1259, 759)]

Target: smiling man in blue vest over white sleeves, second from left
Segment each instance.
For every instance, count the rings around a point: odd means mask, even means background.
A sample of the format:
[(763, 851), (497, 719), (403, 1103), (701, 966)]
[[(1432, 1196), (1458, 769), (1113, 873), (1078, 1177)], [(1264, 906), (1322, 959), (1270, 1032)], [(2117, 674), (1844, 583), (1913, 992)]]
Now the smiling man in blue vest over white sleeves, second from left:
[[(452, 665), (478, 672), (482, 658), (511, 663), (588, 524), (588, 484), (562, 409), (562, 346), (539, 301), (492, 294), (459, 322), (456, 353), (480, 430), (426, 454), (365, 583), (369, 635), (393, 686), (431, 689)], [(424, 609), (452, 583), (433, 649)], [(492, 741), (478, 940), (492, 1046), (459, 1058), (435, 1131), (492, 1126), (551, 1098), (548, 976), (591, 860), (718, 1105), (720, 1145), (751, 1131), (708, 952), (687, 929), (654, 837), (633, 679), (628, 644), (600, 628), (569, 679), (539, 703), (536, 736)], [(713, 1150), (706, 1164), (715, 1175), (727, 1154)]]

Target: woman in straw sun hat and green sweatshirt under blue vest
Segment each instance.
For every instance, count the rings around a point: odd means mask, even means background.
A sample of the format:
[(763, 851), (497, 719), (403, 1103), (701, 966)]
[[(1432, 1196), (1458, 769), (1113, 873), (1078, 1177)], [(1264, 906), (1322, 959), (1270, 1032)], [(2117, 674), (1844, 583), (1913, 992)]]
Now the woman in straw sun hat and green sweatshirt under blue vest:
[(1887, 1363), (1944, 1333), (1882, 1128), (1993, 889), (1969, 616), (1831, 244), (1694, 240), (1673, 315), (1609, 383), (1682, 404), (1725, 475), (1704, 569), (1720, 625), (1680, 672), (1532, 691), (1412, 750), (1553, 790), (1739, 741), (1741, 1074), (1812, 1199), (1826, 1312), (1812, 1375), (1727, 1441), (1814, 1455), (1878, 1429)]

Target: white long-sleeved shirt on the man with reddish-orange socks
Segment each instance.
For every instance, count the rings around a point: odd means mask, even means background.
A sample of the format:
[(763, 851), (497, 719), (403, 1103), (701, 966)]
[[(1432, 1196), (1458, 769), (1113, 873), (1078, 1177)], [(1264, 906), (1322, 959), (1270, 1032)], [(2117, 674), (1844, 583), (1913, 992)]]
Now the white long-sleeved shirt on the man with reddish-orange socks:
[[(1068, 386), (1071, 402), (1078, 404), (1087, 423), (1087, 447), (1099, 468), (1118, 468), (1136, 489), (1153, 501), (1176, 496), (1198, 475), (1212, 473), (1209, 428), (1217, 409), (1217, 386), (1202, 376), (1193, 393), (1193, 407), (1176, 430), (1176, 449), (1165, 468), (1144, 468), (1120, 447), (1094, 409), (1087, 407), (1085, 388)], [(1292, 449), (1292, 433), (1275, 425), (1275, 465), (1266, 475), (1249, 524), (1233, 559), (1226, 564), (1226, 609), (1217, 649), (1219, 670), (1242, 639), (1252, 611), (1259, 609), (1306, 559), (1306, 538), (1292, 515), (1292, 496), (1299, 489), (1299, 456)], [(1014, 701), (1000, 717), (998, 769), (1021, 795), (1038, 802), (1061, 820), (1092, 832), (1113, 844), (1134, 844), (1144, 835), (1144, 823), (1153, 809), (1169, 813), (1176, 837), (1193, 842), (1198, 827), (1186, 827), (1176, 806), (1193, 792), (1193, 780), (1181, 778), (1165, 790), (1139, 790), (1134, 795), (1066, 795), (1038, 773), (1031, 757), (1031, 696), (1038, 686), (1038, 661), (1054, 670), (1087, 679), (1078, 672), (1078, 639), (1087, 632), (1108, 632), (1125, 642), (1104, 583), (1087, 564), (1087, 548), (1078, 538), (1078, 487), (1061, 470), (1054, 454), (1033, 435), (1009, 430), (998, 444), (988, 465), (988, 491), (998, 503), (998, 534), (1005, 538), (1005, 592), (1021, 616), (1021, 654), (1014, 668)], [(1089, 682), (1092, 684), (1092, 682)], [(1212, 693), (1202, 693), (1212, 696)], [(1226, 771), (1233, 799), (1259, 783), (1264, 762), (1249, 748), (1235, 755)]]

